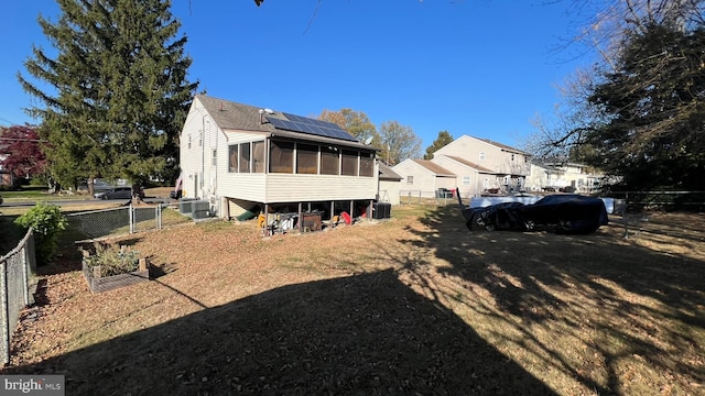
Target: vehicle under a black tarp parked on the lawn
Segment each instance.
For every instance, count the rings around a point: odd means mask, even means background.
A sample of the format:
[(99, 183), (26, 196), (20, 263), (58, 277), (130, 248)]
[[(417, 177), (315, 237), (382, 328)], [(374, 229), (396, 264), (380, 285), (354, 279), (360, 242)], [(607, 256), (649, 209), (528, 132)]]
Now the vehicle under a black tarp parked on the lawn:
[(470, 231), (532, 231), (553, 227), (557, 233), (588, 234), (608, 222), (601, 199), (573, 194), (550, 195), (531, 205), (502, 202), (464, 208), (463, 216)]

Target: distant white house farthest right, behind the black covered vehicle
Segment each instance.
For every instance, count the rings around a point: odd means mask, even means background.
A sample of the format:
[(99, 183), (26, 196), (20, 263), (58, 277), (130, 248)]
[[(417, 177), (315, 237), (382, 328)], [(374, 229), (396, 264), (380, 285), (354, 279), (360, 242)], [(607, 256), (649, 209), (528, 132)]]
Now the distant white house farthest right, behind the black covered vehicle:
[(534, 161), (527, 178), (527, 189), (545, 191), (573, 187), (579, 193), (590, 193), (599, 187), (603, 177), (603, 174), (590, 172), (589, 167), (577, 163)]

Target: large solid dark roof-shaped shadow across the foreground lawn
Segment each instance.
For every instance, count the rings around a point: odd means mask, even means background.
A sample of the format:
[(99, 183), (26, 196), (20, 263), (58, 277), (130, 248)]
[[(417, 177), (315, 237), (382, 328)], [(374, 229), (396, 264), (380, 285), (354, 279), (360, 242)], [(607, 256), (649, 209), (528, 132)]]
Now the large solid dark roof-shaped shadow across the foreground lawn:
[(554, 394), (391, 270), (276, 288), (11, 372), (65, 374), (67, 395)]

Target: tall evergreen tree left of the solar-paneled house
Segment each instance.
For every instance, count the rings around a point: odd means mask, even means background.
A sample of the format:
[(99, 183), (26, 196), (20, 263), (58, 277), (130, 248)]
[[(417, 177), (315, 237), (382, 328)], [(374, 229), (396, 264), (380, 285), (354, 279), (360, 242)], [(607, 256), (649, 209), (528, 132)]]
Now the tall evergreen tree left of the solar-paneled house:
[(69, 186), (98, 176), (175, 178), (178, 131), (197, 82), (186, 78), (192, 61), (171, 2), (57, 2), (58, 21), (39, 23), (58, 55), (34, 47), (25, 62), (54, 91), (18, 75), (43, 105), (28, 112), (42, 120), (53, 177)]

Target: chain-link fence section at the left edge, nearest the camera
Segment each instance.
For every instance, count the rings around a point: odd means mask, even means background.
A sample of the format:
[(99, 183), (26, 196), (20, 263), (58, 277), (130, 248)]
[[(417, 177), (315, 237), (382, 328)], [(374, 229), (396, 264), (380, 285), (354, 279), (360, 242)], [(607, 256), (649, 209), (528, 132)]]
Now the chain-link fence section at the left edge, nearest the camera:
[(20, 320), (20, 311), (32, 304), (30, 288), (36, 284), (34, 233), (32, 229), (10, 253), (0, 257), (0, 359), (2, 365), (10, 362), (12, 333)]

